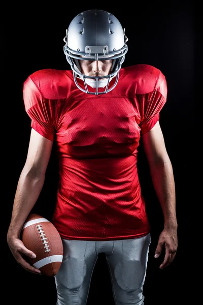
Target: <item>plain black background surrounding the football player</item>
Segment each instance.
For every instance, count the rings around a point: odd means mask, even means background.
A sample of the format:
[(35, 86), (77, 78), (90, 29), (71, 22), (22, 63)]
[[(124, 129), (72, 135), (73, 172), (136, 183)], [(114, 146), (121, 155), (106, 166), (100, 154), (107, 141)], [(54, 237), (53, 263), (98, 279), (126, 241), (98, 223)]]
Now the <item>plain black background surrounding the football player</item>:
[[(128, 37), (128, 53), (123, 67), (149, 64), (165, 75), (168, 96), (160, 113), (160, 126), (171, 159), (176, 184), (176, 204), (179, 246), (174, 262), (159, 269), (164, 252), (154, 258), (159, 234), (163, 229), (160, 204), (153, 189), (142, 141), (139, 146), (138, 171), (146, 210), (151, 225), (147, 275), (144, 286), (145, 305), (194, 304), (195, 277), (198, 269), (194, 252), (194, 236), (198, 234), (195, 206), (199, 201), (196, 187), (198, 160), (198, 89), (200, 76), (199, 58), (200, 28), (199, 8), (195, 2), (122, 3), (109, 6), (80, 5), (50, 2), (42, 7), (35, 3), (23, 7), (11, 7), (2, 32), (4, 52), (2, 101), (3, 166), (5, 165), (3, 191), (4, 204), (4, 258), (3, 285), (6, 303), (56, 304), (54, 278), (35, 276), (25, 271), (14, 260), (6, 242), (11, 220), (13, 200), (20, 172), (24, 166), (29, 136), (30, 119), (25, 112), (23, 82), (33, 72), (46, 69), (70, 70), (63, 54), (65, 29), (80, 12), (103, 9), (114, 14)], [(197, 109), (197, 111), (196, 111)], [(200, 111), (200, 110), (199, 110)], [(45, 184), (34, 211), (50, 219), (54, 210), (58, 181), (57, 160), (54, 149), (47, 168)], [(90, 284), (87, 305), (114, 305), (111, 280), (105, 256), (99, 255)], [(72, 305), (72, 304), (70, 304)]]

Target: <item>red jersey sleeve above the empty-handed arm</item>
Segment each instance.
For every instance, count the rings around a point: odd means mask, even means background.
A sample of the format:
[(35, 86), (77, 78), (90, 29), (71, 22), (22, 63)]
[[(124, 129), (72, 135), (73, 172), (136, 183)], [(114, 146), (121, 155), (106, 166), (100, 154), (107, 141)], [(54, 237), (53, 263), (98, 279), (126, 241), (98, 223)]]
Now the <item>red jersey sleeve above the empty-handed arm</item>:
[(153, 92), (146, 94), (143, 99), (141, 113), (141, 135), (154, 127), (159, 120), (159, 113), (166, 102), (167, 84), (164, 75), (160, 72)]

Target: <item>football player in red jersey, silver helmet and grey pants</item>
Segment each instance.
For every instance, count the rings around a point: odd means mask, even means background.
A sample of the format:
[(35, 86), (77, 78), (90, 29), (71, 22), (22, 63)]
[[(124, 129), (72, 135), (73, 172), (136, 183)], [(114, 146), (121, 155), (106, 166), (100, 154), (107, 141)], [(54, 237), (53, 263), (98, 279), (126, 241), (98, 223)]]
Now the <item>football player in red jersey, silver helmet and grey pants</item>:
[(175, 182), (159, 125), (166, 79), (150, 65), (123, 68), (127, 40), (113, 14), (81, 12), (64, 38), (71, 69), (42, 69), (24, 82), (31, 134), (7, 240), (18, 263), (39, 272), (23, 259), (35, 253), (19, 234), (43, 188), (55, 141), (60, 179), (52, 223), (64, 249), (57, 305), (86, 304), (99, 253), (106, 254), (115, 303), (144, 304), (151, 236), (137, 170), (141, 137), (164, 216), (155, 257), (164, 249), (165, 268), (176, 255)]

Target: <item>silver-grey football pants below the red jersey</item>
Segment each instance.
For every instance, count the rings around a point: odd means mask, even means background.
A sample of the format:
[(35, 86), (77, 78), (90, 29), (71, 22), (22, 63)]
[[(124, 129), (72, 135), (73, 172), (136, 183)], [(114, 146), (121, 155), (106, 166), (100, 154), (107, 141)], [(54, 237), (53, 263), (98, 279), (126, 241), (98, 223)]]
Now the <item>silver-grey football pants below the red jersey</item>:
[[(105, 253), (116, 305), (143, 305), (150, 233), (107, 241), (62, 239), (63, 261), (55, 276), (57, 305), (86, 305), (94, 265)], [(95, 300), (96, 304), (96, 300)]]

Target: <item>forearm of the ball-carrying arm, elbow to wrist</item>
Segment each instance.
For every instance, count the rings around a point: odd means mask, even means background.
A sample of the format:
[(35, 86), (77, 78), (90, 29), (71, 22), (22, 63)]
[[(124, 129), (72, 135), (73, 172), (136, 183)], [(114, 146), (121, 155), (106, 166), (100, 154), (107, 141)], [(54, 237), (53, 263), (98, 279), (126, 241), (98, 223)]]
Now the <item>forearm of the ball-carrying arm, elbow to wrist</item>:
[(40, 195), (44, 179), (44, 175), (22, 170), (14, 198), (9, 234), (19, 237), (22, 226)]

